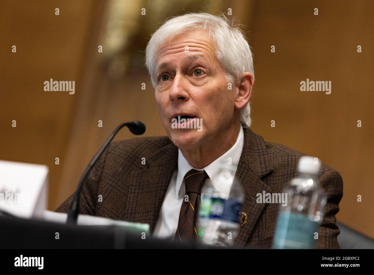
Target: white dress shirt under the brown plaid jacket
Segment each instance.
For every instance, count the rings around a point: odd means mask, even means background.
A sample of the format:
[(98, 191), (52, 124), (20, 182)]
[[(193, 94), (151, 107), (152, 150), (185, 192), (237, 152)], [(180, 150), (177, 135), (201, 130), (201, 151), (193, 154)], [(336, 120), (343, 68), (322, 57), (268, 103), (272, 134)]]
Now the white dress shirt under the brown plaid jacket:
[[(231, 158), (234, 171), (237, 169), (240, 155), (242, 154), (244, 145), (244, 131), (243, 127), (240, 126), (239, 135), (236, 139), (235, 144), (221, 157), (213, 161), (203, 169), (196, 169), (199, 171), (205, 170), (209, 178), (214, 182), (220, 173), (220, 164), (228, 163)], [(194, 169), (190, 163), (184, 158), (181, 150), (178, 149), (178, 168), (175, 169), (173, 176), (171, 177), (168, 191), (157, 219), (156, 227), (153, 232), (153, 236), (157, 238), (171, 238), (174, 239), (175, 232), (177, 231), (179, 213), (181, 210), (186, 188), (184, 186), (184, 176), (188, 171)]]

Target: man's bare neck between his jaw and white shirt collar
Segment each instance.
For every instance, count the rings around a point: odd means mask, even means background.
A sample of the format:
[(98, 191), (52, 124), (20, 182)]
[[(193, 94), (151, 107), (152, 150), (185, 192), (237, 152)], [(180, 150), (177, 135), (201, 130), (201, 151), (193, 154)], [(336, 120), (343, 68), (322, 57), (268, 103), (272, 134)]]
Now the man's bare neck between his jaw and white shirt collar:
[(240, 123), (234, 124), (230, 129), (223, 131), (220, 136), (214, 137), (214, 140), (209, 140), (198, 148), (180, 150), (191, 166), (203, 169), (234, 146), (240, 127)]

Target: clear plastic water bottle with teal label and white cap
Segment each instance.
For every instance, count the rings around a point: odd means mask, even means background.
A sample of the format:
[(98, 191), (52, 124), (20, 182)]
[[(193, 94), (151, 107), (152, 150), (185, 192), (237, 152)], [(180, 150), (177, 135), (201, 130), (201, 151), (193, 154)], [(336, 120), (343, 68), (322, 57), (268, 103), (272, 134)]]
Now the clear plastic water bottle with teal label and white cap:
[(298, 177), (283, 190), (287, 205), (279, 208), (273, 248), (315, 248), (327, 201), (324, 189), (318, 185), (320, 167), (318, 158), (300, 158)]

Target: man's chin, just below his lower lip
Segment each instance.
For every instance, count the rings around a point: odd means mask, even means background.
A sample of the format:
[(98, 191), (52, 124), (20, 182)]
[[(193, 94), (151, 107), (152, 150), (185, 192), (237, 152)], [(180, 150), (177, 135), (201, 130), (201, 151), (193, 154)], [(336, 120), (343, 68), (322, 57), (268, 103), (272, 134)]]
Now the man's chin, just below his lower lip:
[(196, 129), (172, 129), (169, 138), (179, 149), (193, 149), (201, 142), (202, 132)]

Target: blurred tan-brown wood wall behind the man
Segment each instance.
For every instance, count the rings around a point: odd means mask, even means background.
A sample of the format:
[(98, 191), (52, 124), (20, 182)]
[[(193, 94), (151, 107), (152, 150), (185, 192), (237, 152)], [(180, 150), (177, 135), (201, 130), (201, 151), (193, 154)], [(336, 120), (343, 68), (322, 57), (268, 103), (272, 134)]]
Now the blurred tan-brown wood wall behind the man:
[[(254, 53), (252, 130), (338, 170), (337, 219), (374, 238), (373, 1), (0, 1), (0, 159), (47, 165), (54, 210), (119, 123), (165, 135), (143, 67), (150, 34), (169, 16), (228, 9)], [(76, 81), (75, 94), (45, 92), (50, 78)], [(331, 94), (301, 92), (307, 78), (332, 81)]]

